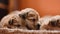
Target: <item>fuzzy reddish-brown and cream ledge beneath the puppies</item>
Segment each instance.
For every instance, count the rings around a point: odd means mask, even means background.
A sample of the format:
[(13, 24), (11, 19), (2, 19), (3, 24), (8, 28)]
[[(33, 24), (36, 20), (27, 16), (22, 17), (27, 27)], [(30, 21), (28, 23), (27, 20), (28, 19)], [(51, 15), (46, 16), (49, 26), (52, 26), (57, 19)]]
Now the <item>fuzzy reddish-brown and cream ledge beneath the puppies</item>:
[(60, 34), (60, 31), (22, 30), (0, 28), (0, 34)]

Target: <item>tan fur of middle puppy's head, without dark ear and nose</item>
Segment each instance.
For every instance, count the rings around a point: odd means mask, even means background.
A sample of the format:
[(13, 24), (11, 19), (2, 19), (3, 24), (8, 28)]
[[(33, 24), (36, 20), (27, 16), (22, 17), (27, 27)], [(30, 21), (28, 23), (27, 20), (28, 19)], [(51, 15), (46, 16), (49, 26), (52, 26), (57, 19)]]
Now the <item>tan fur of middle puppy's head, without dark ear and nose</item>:
[[(39, 22), (39, 19), (40, 19), (40, 16), (39, 16), (38, 12), (36, 10), (32, 9), (32, 8), (23, 9), (23, 10), (21, 10), (21, 12), (22, 13), (24, 13), (24, 12), (28, 13), (27, 17), (25, 19), (26, 24), (30, 28), (36, 30), (36, 27), (37, 27), (36, 25), (39, 24), (38, 22)], [(33, 21), (33, 20), (35, 20), (35, 21)]]

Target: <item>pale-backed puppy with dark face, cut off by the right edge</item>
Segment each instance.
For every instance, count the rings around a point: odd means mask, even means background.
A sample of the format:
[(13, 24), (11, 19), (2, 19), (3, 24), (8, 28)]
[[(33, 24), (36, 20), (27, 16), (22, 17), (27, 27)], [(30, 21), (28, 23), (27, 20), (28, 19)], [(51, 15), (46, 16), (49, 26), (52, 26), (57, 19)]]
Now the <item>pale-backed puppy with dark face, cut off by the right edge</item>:
[(41, 26), (41, 29), (42, 30), (60, 30), (60, 15), (50, 17), (47, 21), (45, 21), (45, 24), (43, 23), (43, 25)]

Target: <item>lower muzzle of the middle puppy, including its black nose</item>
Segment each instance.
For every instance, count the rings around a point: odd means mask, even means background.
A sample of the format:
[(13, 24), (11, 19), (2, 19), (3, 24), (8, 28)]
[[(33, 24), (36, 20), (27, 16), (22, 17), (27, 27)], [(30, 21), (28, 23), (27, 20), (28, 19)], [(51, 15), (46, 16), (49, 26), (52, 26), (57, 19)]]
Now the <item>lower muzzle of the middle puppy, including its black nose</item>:
[(30, 20), (26, 20), (26, 27), (28, 30), (39, 30), (40, 29), (40, 24), (37, 24), (37, 22), (33, 22)]

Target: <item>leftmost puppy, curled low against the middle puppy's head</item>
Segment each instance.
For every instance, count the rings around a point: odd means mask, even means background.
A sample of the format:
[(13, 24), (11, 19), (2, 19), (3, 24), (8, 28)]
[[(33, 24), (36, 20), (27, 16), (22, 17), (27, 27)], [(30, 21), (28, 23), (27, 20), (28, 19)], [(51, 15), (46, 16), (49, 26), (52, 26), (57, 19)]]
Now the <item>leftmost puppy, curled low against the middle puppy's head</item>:
[(14, 11), (7, 16), (5, 16), (1, 20), (1, 26), (2, 28), (10, 28), (10, 29), (26, 29), (24, 25), (24, 21), (19, 17), (19, 11)]

